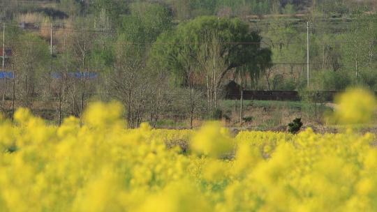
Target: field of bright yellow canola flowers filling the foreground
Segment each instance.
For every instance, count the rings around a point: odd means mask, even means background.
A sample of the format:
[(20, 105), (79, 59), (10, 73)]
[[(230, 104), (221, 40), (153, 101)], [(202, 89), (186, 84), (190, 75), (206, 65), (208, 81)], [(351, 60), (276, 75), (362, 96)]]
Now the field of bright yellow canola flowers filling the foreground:
[(377, 211), (371, 133), (126, 130), (122, 111), (2, 119), (0, 211)]

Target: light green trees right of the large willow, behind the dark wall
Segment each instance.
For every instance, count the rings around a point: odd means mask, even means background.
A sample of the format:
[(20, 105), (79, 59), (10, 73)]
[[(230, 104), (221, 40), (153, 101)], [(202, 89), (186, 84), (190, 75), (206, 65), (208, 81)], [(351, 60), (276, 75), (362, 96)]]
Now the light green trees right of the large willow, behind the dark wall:
[[(352, 84), (376, 87), (376, 15), (355, 13), (349, 20), (329, 22), (312, 14), (309, 20), (311, 89), (342, 90)], [(251, 89), (306, 88), (306, 22), (288, 18), (253, 24), (272, 50), (274, 66)], [(251, 81), (251, 82), (250, 82)]]

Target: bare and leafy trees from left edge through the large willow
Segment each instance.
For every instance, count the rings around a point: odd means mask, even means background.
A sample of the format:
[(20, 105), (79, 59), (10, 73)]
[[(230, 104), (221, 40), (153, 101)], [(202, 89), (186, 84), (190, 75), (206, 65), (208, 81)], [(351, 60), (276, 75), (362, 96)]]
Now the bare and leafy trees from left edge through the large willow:
[(59, 26), (64, 33), (53, 33), (52, 55), (50, 40), (8, 24), (16, 77), (0, 79), (3, 111), (10, 112), (10, 103), (44, 111), (52, 105), (61, 123), (81, 116), (88, 100), (115, 99), (124, 103), (131, 127), (146, 119), (156, 124), (161, 114), (189, 116), (192, 124), (218, 107), (228, 75), (238, 68), (261, 72), (258, 61), (271, 62), (262, 38), (241, 20), (198, 17), (175, 27), (159, 3), (133, 3), (128, 10), (113, 27), (104, 27), (108, 15)]

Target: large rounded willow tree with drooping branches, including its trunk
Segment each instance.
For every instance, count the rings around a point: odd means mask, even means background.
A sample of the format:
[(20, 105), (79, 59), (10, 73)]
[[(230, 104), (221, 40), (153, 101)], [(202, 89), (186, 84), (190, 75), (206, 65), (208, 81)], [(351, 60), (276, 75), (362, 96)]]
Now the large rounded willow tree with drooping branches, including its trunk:
[[(198, 17), (161, 34), (151, 51), (151, 63), (179, 79), (179, 84), (207, 87), (209, 107), (216, 107), (217, 92), (230, 73), (240, 67), (267, 68), (271, 52), (262, 38), (241, 20)], [(249, 73), (244, 73), (244, 75)]]

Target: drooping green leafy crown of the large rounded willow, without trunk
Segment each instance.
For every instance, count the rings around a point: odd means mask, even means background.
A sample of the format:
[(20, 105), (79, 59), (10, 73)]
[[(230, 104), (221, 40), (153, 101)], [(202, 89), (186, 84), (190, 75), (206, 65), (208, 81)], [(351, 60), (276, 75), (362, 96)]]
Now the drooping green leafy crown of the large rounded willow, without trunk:
[(214, 36), (221, 43), (223, 74), (242, 66), (250, 71), (268, 67), (271, 52), (260, 45), (249, 45), (260, 43), (262, 38), (258, 33), (249, 31), (248, 24), (239, 19), (211, 16), (179, 24), (175, 30), (159, 36), (151, 50), (151, 63), (157, 64), (162, 70), (175, 73), (187, 83), (188, 72), (200, 60), (203, 45), (212, 45), (211, 39)]

